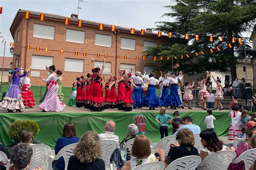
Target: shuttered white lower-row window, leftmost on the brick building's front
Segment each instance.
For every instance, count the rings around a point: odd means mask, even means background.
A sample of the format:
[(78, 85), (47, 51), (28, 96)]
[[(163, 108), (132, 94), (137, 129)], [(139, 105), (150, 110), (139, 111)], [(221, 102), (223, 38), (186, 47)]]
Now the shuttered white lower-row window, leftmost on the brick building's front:
[(45, 69), (45, 66), (53, 64), (52, 56), (32, 55), (31, 68), (32, 69)]

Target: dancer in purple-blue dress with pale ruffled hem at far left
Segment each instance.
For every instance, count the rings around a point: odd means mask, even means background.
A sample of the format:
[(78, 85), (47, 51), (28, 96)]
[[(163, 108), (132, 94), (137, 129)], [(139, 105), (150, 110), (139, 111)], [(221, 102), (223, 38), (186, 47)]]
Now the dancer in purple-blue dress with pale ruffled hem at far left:
[[(4, 100), (1, 102), (1, 107), (7, 109), (8, 112), (14, 112), (12, 110), (16, 109), (16, 112), (23, 112), (21, 109), (24, 109), (25, 106), (22, 101), (21, 91), (19, 90), (19, 82), (21, 77), (26, 75), (26, 71), (21, 74), (22, 68), (16, 68), (12, 74), (12, 84), (8, 95), (4, 97)], [(28, 71), (30, 68), (28, 69)]]

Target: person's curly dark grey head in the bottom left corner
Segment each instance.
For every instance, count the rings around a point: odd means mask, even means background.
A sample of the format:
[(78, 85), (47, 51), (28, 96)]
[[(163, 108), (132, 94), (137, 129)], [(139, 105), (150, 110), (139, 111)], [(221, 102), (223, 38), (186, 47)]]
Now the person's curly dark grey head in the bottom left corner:
[(21, 143), (14, 146), (10, 153), (11, 165), (9, 170), (29, 168), (33, 150), (30, 144)]

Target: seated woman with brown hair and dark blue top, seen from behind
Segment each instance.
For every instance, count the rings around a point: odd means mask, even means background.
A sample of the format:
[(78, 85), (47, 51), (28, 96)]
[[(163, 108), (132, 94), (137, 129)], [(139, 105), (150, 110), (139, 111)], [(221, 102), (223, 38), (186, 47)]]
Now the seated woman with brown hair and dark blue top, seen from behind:
[[(75, 125), (72, 122), (68, 122), (65, 124), (63, 131), (62, 131), (62, 137), (58, 138), (55, 145), (55, 154), (57, 155), (59, 151), (70, 144), (78, 143), (79, 138), (76, 137), (76, 128)], [(63, 157), (59, 158), (57, 161), (53, 162), (53, 169), (65, 169), (65, 161)]]

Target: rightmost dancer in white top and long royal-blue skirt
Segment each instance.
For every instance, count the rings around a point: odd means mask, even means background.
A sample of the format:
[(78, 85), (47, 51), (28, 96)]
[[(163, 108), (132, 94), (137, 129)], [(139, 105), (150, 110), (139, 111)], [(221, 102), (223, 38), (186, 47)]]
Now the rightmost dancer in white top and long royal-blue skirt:
[[(172, 109), (176, 109), (176, 107), (180, 106), (181, 100), (178, 93), (178, 80), (182, 79), (182, 72), (179, 72), (179, 76), (176, 77), (176, 74), (173, 73), (172, 77), (169, 77), (171, 88), (170, 88), (170, 95), (168, 97), (167, 105), (170, 105)], [(183, 106), (181, 105), (181, 108)]]

